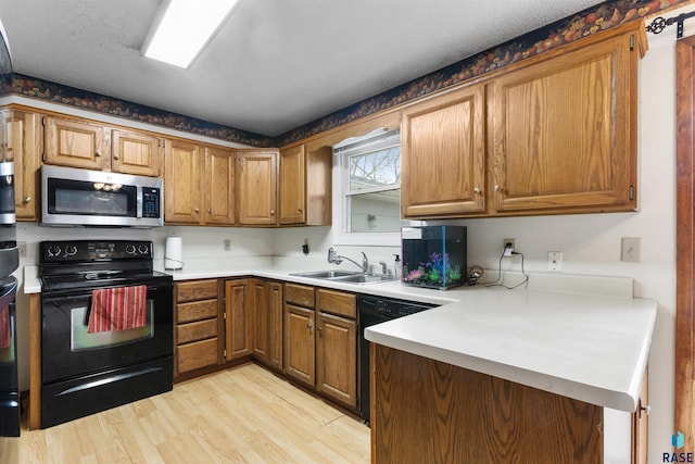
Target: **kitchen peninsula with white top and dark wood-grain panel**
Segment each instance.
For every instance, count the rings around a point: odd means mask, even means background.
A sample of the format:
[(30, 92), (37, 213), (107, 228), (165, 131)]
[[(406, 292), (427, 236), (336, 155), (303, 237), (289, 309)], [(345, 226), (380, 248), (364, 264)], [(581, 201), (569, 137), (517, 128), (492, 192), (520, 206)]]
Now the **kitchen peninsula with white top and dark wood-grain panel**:
[(372, 463), (604, 463), (604, 407), (634, 412), (656, 303), (472, 291), (368, 327)]

